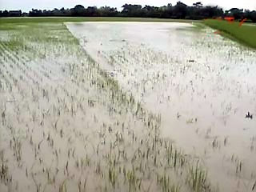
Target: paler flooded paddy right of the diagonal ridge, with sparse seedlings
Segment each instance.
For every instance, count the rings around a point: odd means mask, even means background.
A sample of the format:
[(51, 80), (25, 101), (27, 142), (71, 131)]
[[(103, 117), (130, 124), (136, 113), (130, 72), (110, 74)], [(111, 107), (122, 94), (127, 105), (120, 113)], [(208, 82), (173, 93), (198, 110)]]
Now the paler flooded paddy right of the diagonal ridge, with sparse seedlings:
[(220, 191), (254, 190), (254, 50), (186, 23), (66, 25), (126, 92), (162, 115), (162, 136), (201, 158)]

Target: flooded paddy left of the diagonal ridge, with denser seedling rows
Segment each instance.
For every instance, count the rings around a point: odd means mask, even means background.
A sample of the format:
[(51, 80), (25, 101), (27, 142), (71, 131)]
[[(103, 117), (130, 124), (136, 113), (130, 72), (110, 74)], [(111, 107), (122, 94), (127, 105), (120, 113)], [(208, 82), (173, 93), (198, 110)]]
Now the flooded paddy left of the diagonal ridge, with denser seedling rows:
[(180, 172), (190, 167), (170, 141), (155, 152), (158, 117), (142, 114), (66, 26), (26, 27), (0, 40), (1, 192), (158, 191), (158, 172), (189, 188)]

